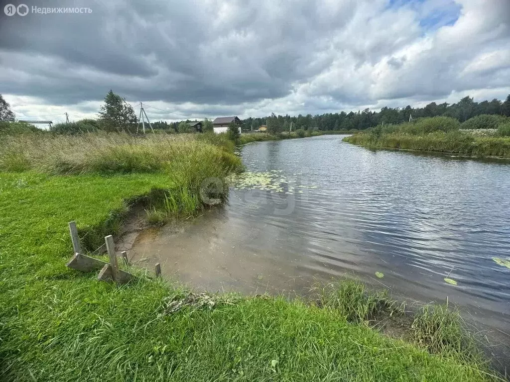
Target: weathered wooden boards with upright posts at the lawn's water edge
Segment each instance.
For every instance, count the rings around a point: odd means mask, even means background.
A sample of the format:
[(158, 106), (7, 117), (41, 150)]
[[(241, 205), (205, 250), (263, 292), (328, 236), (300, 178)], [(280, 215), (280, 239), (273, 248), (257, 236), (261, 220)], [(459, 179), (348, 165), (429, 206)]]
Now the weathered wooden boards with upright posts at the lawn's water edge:
[[(97, 279), (100, 281), (114, 281), (117, 284), (126, 284), (134, 278), (132, 274), (125, 270), (119, 269), (117, 264), (117, 256), (115, 255), (115, 244), (113, 242), (113, 236), (108, 235), (105, 237), (106, 249), (108, 251), (109, 262), (96, 259), (82, 254), (80, 246), (80, 239), (78, 237), (78, 230), (75, 222), (69, 222), (69, 233), (71, 234), (72, 247), (74, 250), (74, 256), (66, 264), (69, 268), (80, 270), (82, 272), (92, 272), (100, 270)], [(127, 255), (122, 252), (122, 258), (127, 264)]]

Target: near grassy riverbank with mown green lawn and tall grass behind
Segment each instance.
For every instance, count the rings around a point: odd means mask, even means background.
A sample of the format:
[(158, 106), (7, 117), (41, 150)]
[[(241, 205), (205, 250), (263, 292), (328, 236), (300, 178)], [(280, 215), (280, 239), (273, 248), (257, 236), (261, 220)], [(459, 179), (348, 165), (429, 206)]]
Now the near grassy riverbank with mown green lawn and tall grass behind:
[(320, 290), (320, 304), (310, 304), (189, 294), (136, 269), (135, 283), (116, 287), (65, 267), (72, 252), (67, 222), (77, 221), (83, 247), (94, 252), (105, 234), (119, 231), (130, 205), (150, 205), (162, 190), (177, 201), (169, 213), (200, 207), (203, 179), (222, 179), (240, 166), (224, 148), (123, 135), (17, 138), (5, 147), (2, 380), (494, 379), (477, 355), (464, 352), (470, 347), (455, 350), (463, 337), (450, 324), (441, 333), (451, 334), (453, 342), (444, 343), (453, 346), (429, 347), (438, 327), (425, 313), (417, 316), (424, 323), (418, 340), (371, 329), (365, 321), (392, 304), (358, 284)]

